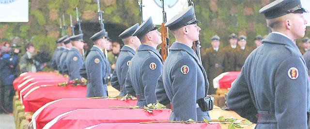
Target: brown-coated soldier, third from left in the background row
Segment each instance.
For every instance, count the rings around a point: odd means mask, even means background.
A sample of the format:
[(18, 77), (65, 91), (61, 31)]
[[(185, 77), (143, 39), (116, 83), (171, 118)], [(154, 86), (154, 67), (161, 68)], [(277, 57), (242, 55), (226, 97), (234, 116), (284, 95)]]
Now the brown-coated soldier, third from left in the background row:
[(241, 71), (248, 55), (252, 52), (252, 48), (247, 46), (247, 37), (240, 35), (238, 37), (237, 55), (236, 55), (236, 71)]

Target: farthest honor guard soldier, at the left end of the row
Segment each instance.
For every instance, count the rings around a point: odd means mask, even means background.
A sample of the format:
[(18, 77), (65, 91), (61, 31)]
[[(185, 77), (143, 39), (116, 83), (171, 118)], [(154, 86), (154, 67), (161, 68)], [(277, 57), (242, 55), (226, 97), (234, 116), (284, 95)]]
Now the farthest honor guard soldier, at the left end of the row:
[(58, 39), (56, 41), (57, 48), (56, 48), (56, 50), (54, 52), (54, 55), (53, 55), (53, 57), (52, 57), (52, 59), (50, 61), (50, 66), (54, 70), (58, 70), (57, 66), (58, 66), (58, 63), (59, 63), (59, 60), (60, 60), (60, 56), (62, 56), (62, 51), (64, 50), (64, 43), (63, 43), (63, 41), (65, 39), (67, 39), (67, 38), (68, 38), (68, 35), (65, 35), (65, 36), (63, 36), (62, 38), (60, 38), (60, 39)]

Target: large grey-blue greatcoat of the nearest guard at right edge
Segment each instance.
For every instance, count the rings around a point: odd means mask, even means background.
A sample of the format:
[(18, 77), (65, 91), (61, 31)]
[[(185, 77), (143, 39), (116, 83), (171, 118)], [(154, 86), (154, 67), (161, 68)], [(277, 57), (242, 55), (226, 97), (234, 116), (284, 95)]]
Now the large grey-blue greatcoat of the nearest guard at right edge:
[[(227, 105), (257, 123), (257, 129), (307, 129), (309, 98), (309, 77), (298, 47), (272, 32), (246, 59), (228, 93)], [(276, 121), (257, 118), (262, 114)]]

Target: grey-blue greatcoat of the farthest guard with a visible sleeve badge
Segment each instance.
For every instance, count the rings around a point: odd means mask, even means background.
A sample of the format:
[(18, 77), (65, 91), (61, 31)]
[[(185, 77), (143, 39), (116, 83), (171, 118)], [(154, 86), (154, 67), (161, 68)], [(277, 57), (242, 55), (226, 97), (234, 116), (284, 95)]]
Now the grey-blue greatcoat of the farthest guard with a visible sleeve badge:
[(79, 69), (82, 67), (84, 59), (77, 48), (72, 47), (68, 52), (64, 72), (67, 72), (69, 75), (69, 80), (81, 79), (82, 76), (79, 74)]

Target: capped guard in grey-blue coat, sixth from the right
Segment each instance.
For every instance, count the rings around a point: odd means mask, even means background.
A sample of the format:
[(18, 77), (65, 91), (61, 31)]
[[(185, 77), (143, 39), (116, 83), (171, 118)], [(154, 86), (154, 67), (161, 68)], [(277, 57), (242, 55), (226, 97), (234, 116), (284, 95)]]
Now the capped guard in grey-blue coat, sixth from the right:
[(69, 80), (81, 79), (79, 69), (82, 67), (84, 59), (80, 53), (83, 49), (83, 34), (73, 35), (70, 37), (72, 48), (68, 52), (66, 61), (64, 62), (64, 72), (68, 73)]

